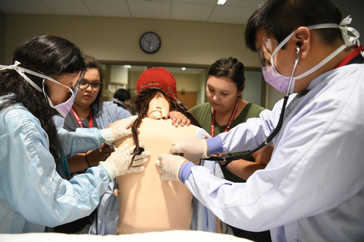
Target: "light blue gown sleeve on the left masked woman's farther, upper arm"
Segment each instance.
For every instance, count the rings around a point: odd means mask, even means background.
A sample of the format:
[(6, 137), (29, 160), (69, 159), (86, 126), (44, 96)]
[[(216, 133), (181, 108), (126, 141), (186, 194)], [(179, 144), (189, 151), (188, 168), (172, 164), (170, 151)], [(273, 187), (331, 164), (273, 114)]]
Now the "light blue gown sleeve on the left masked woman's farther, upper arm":
[(76, 128), (75, 132), (58, 128), (58, 136), (67, 158), (101, 146), (97, 128)]

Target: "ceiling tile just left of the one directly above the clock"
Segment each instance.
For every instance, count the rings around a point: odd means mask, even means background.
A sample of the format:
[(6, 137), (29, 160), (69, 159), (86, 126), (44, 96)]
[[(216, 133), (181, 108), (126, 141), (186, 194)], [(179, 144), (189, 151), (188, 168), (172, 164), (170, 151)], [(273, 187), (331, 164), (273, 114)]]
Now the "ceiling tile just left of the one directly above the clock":
[(83, 0), (94, 16), (131, 17), (126, 0)]

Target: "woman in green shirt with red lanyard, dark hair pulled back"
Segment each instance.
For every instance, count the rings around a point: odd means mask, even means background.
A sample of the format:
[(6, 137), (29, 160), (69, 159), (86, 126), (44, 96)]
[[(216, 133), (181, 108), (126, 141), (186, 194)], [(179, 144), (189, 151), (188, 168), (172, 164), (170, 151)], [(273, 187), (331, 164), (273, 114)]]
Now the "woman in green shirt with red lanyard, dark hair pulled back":
[[(258, 118), (265, 108), (242, 99), (245, 87), (244, 65), (236, 58), (220, 58), (209, 68), (206, 83), (206, 97), (209, 102), (191, 108), (193, 114), (203, 129), (217, 136), (246, 122), (248, 118)], [(232, 122), (230, 120), (232, 119)], [(221, 169), (226, 180), (245, 182), (252, 173), (264, 169), (270, 160), (273, 147), (267, 146), (253, 153), (245, 160), (236, 160)], [(237, 155), (239, 153), (234, 153)], [(255, 161), (255, 162), (254, 162)], [(222, 233), (234, 234), (253, 241), (270, 241), (269, 231), (254, 233), (238, 229), (222, 223)]]

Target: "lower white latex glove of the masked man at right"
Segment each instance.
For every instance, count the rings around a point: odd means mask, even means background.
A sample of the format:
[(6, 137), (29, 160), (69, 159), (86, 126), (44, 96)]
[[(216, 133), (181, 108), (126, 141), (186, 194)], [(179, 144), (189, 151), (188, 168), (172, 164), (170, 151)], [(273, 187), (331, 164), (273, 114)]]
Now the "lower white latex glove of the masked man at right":
[(181, 168), (181, 165), (185, 161), (188, 160), (178, 155), (161, 154), (158, 156), (155, 164), (161, 167), (159, 168), (159, 172), (163, 174), (161, 177), (162, 180), (179, 181), (179, 168)]

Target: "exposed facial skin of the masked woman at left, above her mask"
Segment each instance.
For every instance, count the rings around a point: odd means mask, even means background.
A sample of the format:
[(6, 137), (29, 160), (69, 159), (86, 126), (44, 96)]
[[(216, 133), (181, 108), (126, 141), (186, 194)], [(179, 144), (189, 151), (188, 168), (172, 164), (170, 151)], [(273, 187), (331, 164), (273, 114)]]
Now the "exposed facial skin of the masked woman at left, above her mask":
[[(63, 85), (66, 85), (72, 89), (72, 84), (75, 78), (78, 76), (77, 73), (70, 73), (70, 74), (64, 74), (59, 77), (54, 78), (56, 81), (62, 83)], [(70, 90), (67, 89), (67, 87), (59, 85), (58, 83), (46, 80), (45, 85), (48, 87), (49, 90), (49, 98), (52, 101), (52, 104), (58, 105), (60, 103), (66, 102), (68, 98), (71, 97)]]

